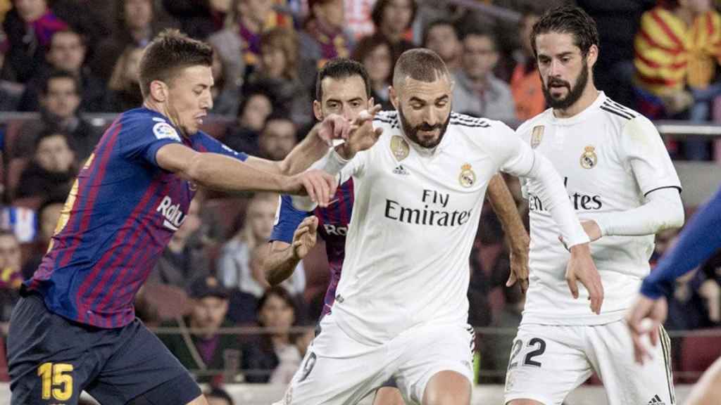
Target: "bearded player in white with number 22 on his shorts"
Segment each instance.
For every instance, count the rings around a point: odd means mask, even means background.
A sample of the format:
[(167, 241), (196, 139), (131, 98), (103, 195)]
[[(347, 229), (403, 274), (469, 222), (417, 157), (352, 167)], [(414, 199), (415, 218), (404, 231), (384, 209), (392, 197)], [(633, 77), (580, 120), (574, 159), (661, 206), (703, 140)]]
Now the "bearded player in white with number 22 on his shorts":
[(561, 404), (595, 371), (611, 405), (673, 405), (668, 346), (657, 347), (653, 362), (634, 364), (624, 315), (650, 271), (654, 234), (684, 223), (676, 169), (653, 123), (593, 84), (598, 32), (583, 9), (544, 14), (531, 45), (551, 108), (517, 133), (564, 177), (564, 192), (593, 241), (605, 293), (602, 308), (589, 308), (592, 295), (565, 275), (559, 228), (539, 200), (538, 182), (527, 180), (531, 274), (505, 401)]

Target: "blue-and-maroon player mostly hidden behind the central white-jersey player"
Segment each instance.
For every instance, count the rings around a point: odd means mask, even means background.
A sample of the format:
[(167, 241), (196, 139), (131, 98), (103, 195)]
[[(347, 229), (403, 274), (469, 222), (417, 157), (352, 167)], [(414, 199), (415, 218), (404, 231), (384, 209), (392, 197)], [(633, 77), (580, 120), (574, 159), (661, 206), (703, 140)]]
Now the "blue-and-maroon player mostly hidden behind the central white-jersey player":
[[(348, 59), (329, 61), (318, 73), (313, 107), (318, 120), (337, 114), (349, 121), (354, 120), (362, 110), (373, 107), (368, 75), (363, 65)], [(512, 265), (516, 267), (513, 275), (527, 275), (528, 233), (500, 174), (490, 182), (488, 196), (510, 236)], [(333, 197), (334, 203), (327, 208), (316, 208), (312, 212), (296, 210), (291, 203), (291, 197), (284, 195), (281, 197), (273, 235), (270, 237), (271, 252), (265, 259), (263, 268), (268, 282), (273, 285), (291, 276), (298, 262), (315, 245), (317, 234), (325, 241), (330, 282), (324, 298), (322, 316), (331, 311), (335, 301), (335, 289), (341, 277), (345, 257), (345, 236), (353, 210), (353, 197), (353, 179), (340, 184)], [(513, 284), (513, 280), (509, 282)], [(527, 276), (522, 276), (522, 288), (525, 288), (526, 282)], [(394, 405), (404, 402), (391, 380), (376, 391), (374, 404)]]

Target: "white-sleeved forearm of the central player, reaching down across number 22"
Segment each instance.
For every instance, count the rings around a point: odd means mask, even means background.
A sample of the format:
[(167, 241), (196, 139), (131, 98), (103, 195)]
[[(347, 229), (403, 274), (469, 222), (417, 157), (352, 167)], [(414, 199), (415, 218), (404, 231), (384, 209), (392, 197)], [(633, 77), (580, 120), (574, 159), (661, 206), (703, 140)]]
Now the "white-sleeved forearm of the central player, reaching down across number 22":
[(526, 177), (541, 183), (539, 197), (544, 206), (548, 207), (554, 222), (561, 231), (567, 247), (588, 243), (588, 235), (578, 222), (566, 188), (553, 164), (540, 153), (535, 153), (535, 161), (531, 172)]

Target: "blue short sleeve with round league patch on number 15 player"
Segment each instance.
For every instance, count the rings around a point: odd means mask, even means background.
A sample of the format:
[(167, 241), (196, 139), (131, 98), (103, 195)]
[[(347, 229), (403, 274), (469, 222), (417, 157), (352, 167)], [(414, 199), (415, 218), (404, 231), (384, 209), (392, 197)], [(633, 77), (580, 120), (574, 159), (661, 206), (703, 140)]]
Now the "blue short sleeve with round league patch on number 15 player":
[(180, 143), (180, 133), (165, 120), (147, 115), (133, 115), (127, 120), (120, 120), (121, 135), (120, 154), (128, 159), (142, 159), (153, 166), (158, 166), (155, 154), (169, 143)]

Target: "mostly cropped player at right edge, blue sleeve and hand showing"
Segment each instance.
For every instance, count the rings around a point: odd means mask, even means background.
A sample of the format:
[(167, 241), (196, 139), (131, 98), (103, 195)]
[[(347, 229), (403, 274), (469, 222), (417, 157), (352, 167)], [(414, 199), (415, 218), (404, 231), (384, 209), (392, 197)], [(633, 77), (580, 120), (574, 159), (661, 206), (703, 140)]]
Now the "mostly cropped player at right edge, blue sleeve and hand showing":
[[(658, 344), (660, 326), (668, 313), (666, 300), (673, 295), (676, 279), (699, 267), (718, 249), (721, 249), (721, 189), (691, 218), (676, 244), (643, 280), (640, 295), (626, 315), (637, 362), (643, 363), (645, 359), (652, 358), (641, 337), (649, 334), (653, 346)], [(642, 323), (646, 318), (651, 320), (651, 324)], [(686, 405), (717, 404), (720, 398), (721, 358), (696, 383)]]

